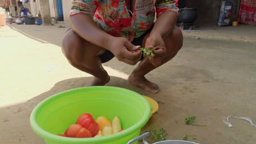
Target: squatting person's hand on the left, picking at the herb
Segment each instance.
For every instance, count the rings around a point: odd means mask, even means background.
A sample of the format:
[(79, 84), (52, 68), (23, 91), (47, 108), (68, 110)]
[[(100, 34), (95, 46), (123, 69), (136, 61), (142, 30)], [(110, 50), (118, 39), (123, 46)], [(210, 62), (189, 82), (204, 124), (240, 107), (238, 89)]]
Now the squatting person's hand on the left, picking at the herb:
[(117, 57), (118, 61), (125, 62), (130, 65), (135, 65), (141, 60), (142, 52), (139, 50), (140, 46), (135, 46), (125, 38), (113, 38), (109, 45), (108, 50)]

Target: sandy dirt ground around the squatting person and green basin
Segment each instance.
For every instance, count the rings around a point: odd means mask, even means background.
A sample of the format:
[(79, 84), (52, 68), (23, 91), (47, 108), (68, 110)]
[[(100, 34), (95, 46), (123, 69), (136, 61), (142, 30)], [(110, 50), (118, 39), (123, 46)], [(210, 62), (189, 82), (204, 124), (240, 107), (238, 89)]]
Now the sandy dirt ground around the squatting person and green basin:
[[(30, 113), (40, 101), (58, 92), (83, 87), (92, 77), (74, 69), (61, 52), (66, 28), (11, 25), (0, 28), (0, 143), (43, 144), (30, 127)], [(255, 29), (255, 27), (252, 27)], [(154, 98), (159, 111), (143, 128), (160, 124), (167, 140), (193, 135), (199, 143), (256, 142), (251, 124), (229, 115), (250, 117), (256, 123), (256, 43), (185, 37), (183, 49), (172, 61), (147, 75), (161, 92), (152, 94), (126, 81), (135, 66), (104, 64), (111, 76), (107, 86), (117, 86)], [(197, 116), (185, 125), (184, 118)], [(195, 141), (189, 136), (190, 141)]]

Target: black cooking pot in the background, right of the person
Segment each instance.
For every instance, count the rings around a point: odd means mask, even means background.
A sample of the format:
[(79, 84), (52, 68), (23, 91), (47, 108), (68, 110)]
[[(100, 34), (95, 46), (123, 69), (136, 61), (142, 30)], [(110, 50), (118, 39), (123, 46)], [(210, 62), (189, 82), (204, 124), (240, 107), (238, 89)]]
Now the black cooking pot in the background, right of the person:
[(193, 23), (197, 18), (197, 9), (179, 9), (178, 23)]

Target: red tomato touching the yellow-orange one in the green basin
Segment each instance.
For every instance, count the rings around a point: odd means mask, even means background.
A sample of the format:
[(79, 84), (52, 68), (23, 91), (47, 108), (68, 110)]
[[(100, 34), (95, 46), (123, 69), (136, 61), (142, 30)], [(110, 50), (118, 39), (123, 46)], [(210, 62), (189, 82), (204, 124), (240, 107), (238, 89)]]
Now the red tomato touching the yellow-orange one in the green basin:
[(77, 124), (82, 125), (84, 128), (91, 132), (92, 137), (98, 134), (98, 124), (94, 121), (94, 118), (89, 113), (84, 113), (77, 119)]

